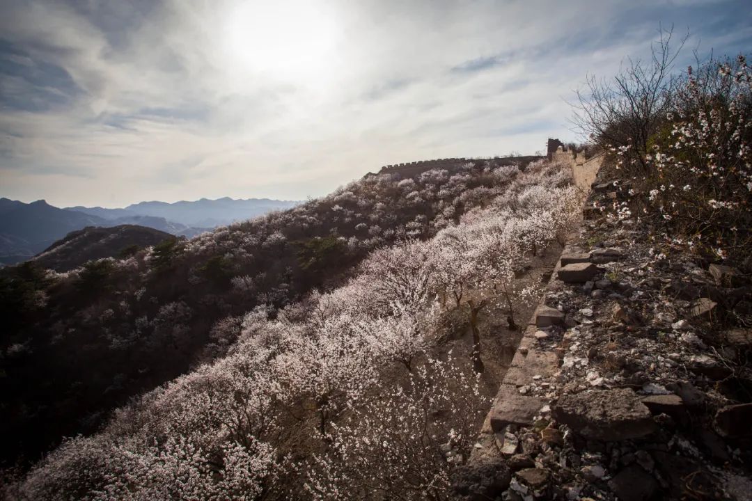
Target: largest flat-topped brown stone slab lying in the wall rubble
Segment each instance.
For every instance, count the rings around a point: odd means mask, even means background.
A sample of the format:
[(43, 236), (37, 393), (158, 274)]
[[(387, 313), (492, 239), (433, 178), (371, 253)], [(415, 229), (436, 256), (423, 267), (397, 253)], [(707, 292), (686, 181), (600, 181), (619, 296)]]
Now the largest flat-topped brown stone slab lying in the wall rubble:
[(588, 439), (636, 439), (656, 430), (650, 410), (629, 388), (564, 395), (551, 411), (556, 421)]

